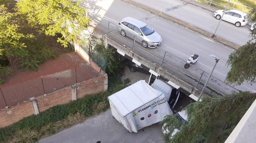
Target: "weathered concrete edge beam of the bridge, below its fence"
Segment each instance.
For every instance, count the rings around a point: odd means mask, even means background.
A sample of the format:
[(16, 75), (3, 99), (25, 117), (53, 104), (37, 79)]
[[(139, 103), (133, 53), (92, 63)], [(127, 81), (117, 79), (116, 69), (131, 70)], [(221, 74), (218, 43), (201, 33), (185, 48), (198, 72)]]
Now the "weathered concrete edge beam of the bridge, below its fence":
[[(140, 62), (141, 64), (143, 64), (144, 66), (148, 67), (149, 69), (153, 70), (154, 72), (156, 72), (158, 75), (163, 76), (164, 78), (172, 81), (174, 84), (177, 84), (178, 86), (180, 86), (183, 90), (186, 90), (187, 92), (194, 94), (195, 96), (199, 96), (201, 90), (195, 88), (194, 85), (188, 83), (187, 81), (179, 78), (177, 75), (167, 71), (164, 68), (161, 68), (160, 66), (158, 66), (157, 64), (153, 63), (152, 61), (150, 61), (149, 59), (147, 59), (146, 57), (143, 57), (141, 55), (139, 55), (136, 52), (133, 52), (132, 50), (128, 49), (127, 47), (124, 47), (122, 44), (118, 43), (117, 41), (115, 41), (112, 38), (108, 38), (106, 35), (100, 33), (99, 31), (97, 31), (96, 29), (94, 29), (94, 36), (96, 36), (97, 38), (102, 38), (104, 40), (104, 42), (106, 42), (109, 45), (112, 45), (113, 47), (115, 47), (118, 51), (121, 51), (121, 53), (131, 57), (132, 59), (135, 59), (136, 61)], [(122, 55), (122, 54), (121, 54)], [(131, 59), (130, 59), (131, 60)], [(183, 92), (183, 91), (182, 91)]]

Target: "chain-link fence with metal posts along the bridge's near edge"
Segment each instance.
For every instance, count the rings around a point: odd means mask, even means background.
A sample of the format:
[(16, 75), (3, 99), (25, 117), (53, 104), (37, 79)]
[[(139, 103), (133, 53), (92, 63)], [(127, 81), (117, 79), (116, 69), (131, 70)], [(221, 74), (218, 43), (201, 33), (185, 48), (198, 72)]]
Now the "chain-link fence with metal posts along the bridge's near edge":
[[(209, 76), (209, 73), (206, 71), (203, 71), (193, 65), (190, 65), (189, 70), (185, 69), (185, 60), (165, 51), (164, 49), (161, 49), (158, 46), (156, 48), (143, 48), (140, 43), (136, 42), (136, 36), (130, 36), (133, 38), (121, 36), (120, 29), (117, 26), (118, 23), (108, 21), (96, 14), (90, 14), (90, 17), (92, 18), (90, 25), (98, 31), (101, 31), (108, 37), (116, 40), (116, 42), (121, 43), (123, 46), (142, 55), (148, 59), (148, 61), (158, 64), (160, 67), (165, 68), (187, 82), (195, 85), (195, 87), (200, 89), (203, 88)], [(134, 35), (128, 31), (126, 31), (126, 33)], [(214, 76), (211, 76), (205, 91), (213, 95), (225, 95), (239, 92), (236, 88)]]

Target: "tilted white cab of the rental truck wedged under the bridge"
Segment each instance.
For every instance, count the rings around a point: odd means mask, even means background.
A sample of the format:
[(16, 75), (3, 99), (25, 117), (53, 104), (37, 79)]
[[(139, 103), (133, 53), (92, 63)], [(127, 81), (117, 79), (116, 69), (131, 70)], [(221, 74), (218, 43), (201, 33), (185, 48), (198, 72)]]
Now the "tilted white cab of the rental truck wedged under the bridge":
[(159, 90), (164, 93), (170, 107), (174, 109), (178, 99), (179, 99), (179, 90), (166, 83), (162, 79), (155, 79), (152, 87), (156, 90)]

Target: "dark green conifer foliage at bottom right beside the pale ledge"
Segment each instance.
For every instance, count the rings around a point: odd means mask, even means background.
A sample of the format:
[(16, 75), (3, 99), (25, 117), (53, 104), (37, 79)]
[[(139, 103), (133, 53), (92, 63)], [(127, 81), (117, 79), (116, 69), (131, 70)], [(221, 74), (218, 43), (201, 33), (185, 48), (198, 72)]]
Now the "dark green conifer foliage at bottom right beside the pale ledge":
[(202, 101), (189, 104), (188, 121), (181, 125), (175, 120), (175, 115), (168, 115), (162, 122), (170, 133), (165, 135), (165, 141), (174, 128), (179, 131), (173, 136), (173, 143), (223, 143), (234, 127), (241, 120), (247, 109), (256, 99), (256, 93), (241, 92), (223, 97), (204, 97)]

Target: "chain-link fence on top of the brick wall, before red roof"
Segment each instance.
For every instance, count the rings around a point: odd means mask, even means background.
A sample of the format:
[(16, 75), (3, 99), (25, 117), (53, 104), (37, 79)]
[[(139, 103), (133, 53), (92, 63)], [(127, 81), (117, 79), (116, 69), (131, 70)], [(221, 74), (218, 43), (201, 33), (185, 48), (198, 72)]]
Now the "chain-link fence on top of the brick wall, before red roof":
[(48, 94), (97, 76), (100, 76), (97, 71), (88, 72), (88, 68), (84, 66), (61, 71), (14, 86), (0, 88), (0, 96), (4, 100), (4, 102), (0, 102), (0, 108), (15, 105), (16, 103), (27, 101), (30, 97)]

